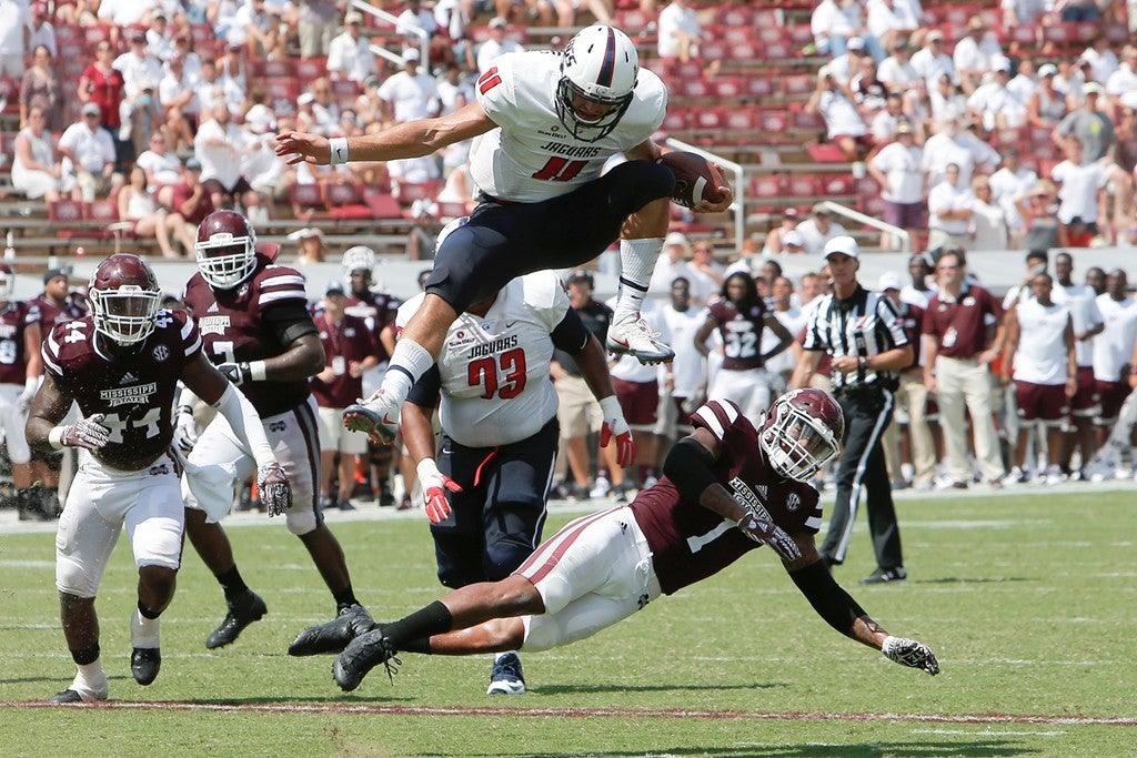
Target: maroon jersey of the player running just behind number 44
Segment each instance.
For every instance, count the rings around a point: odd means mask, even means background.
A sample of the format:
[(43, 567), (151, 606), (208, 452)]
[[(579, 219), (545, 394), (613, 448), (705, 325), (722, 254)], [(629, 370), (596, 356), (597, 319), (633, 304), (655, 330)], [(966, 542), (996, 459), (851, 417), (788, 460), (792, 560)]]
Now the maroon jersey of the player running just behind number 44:
[[(232, 290), (214, 290), (201, 274), (185, 285), (185, 307), (201, 330), (206, 357), (215, 365), (274, 358), (288, 349), (277, 336), (273, 310), (308, 303), (304, 275), (257, 255), (252, 275)], [(260, 417), (275, 416), (308, 399), (308, 380), (244, 382), (240, 388)]]

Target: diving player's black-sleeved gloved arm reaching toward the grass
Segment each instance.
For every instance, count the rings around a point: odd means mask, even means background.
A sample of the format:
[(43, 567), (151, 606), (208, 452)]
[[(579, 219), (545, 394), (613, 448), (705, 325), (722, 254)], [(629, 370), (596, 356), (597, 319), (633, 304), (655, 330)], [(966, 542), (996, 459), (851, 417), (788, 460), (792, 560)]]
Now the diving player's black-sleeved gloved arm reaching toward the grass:
[(874, 622), (825, 568), (812, 534), (795, 534), (802, 557), (787, 561), (790, 578), (825, 622), (835, 630), (866, 647), (880, 650), (891, 661), (919, 668), (935, 676), (939, 661), (923, 642), (893, 636)]

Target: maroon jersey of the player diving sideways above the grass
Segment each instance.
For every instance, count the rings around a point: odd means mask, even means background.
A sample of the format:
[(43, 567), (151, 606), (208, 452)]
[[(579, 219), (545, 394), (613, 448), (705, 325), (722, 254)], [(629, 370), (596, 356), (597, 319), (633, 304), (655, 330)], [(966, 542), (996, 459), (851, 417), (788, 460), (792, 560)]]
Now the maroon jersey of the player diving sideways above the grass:
[[(691, 415), (691, 426), (707, 430), (722, 445), (714, 473), (744, 507), (789, 534), (818, 533), (818, 491), (774, 473), (758, 447), (757, 431), (738, 406), (729, 400), (711, 400)], [(652, 548), (655, 573), (665, 594), (717, 574), (761, 547), (733, 523), (683, 500), (666, 476), (640, 492), (631, 509)]]

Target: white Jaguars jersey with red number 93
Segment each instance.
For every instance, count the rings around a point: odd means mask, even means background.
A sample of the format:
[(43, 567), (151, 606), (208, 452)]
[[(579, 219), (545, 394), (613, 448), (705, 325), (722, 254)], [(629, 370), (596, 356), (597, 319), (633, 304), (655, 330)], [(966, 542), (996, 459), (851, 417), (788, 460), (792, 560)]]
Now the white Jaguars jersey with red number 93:
[[(397, 328), (410, 322), (424, 297), (399, 307)], [(439, 414), (447, 434), (472, 448), (511, 444), (556, 416), (549, 335), (567, 310), (561, 280), (543, 270), (505, 285), (484, 316), (458, 316), (438, 360)]]

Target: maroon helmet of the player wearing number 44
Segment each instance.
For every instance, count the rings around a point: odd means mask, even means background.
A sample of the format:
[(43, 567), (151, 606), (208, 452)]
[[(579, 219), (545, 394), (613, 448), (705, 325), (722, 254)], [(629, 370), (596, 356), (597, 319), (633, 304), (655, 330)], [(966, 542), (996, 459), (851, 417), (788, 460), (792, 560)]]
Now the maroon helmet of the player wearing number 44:
[(117, 344), (136, 344), (153, 332), (161, 288), (144, 260), (124, 252), (99, 264), (91, 277), (94, 331)]

